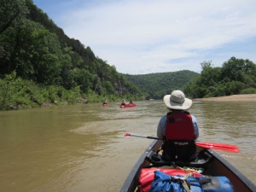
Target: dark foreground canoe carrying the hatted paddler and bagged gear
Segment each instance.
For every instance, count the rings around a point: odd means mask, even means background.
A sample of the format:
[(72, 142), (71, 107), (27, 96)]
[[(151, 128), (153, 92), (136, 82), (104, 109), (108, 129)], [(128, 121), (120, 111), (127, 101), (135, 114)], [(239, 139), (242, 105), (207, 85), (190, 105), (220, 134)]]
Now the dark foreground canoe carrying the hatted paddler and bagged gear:
[(204, 170), (203, 175), (207, 176), (228, 177), (234, 191), (237, 192), (256, 191), (255, 185), (248, 180), (247, 177), (245, 177), (236, 169), (236, 167), (232, 166), (227, 160), (224, 160), (212, 149), (196, 146), (197, 152), (205, 155), (203, 158), (201, 158), (201, 160), (196, 162), (166, 162), (163, 160), (158, 160), (158, 158), (152, 158), (154, 155), (156, 155), (156, 151), (160, 149), (161, 144), (162, 141), (154, 140), (154, 142), (149, 145), (139, 160), (137, 160), (136, 165), (131, 169), (128, 177), (126, 177), (125, 183), (120, 189), (120, 192), (139, 192), (139, 177), (141, 171), (145, 169), (145, 167), (153, 166), (159, 168), (160, 166), (171, 166), (174, 164), (181, 167), (201, 167)]

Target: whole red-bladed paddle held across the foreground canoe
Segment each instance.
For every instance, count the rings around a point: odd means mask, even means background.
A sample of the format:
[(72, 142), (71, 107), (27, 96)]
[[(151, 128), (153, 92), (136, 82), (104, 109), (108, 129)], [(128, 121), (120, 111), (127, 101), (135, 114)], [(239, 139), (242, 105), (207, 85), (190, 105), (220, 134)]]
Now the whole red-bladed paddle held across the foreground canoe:
[[(149, 138), (149, 139), (160, 140), (158, 137), (143, 136), (143, 135), (131, 134), (128, 132), (125, 133), (125, 137), (126, 136), (144, 137), (144, 138)], [(239, 148), (237, 148), (235, 145), (230, 145), (230, 144), (225, 144), (225, 143), (195, 142), (195, 144), (202, 148), (223, 150), (223, 151), (233, 152), (233, 153), (238, 153), (240, 151)]]

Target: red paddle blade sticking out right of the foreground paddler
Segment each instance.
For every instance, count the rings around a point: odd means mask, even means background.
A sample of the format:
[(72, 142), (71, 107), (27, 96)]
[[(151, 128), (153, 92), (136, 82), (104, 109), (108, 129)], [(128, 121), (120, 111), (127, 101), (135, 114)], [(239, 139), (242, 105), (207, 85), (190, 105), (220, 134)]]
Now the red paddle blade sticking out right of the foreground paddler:
[(196, 145), (202, 148), (211, 148), (217, 150), (223, 150), (233, 153), (238, 153), (240, 150), (235, 145), (225, 144), (225, 143), (211, 143), (211, 142), (196, 142)]

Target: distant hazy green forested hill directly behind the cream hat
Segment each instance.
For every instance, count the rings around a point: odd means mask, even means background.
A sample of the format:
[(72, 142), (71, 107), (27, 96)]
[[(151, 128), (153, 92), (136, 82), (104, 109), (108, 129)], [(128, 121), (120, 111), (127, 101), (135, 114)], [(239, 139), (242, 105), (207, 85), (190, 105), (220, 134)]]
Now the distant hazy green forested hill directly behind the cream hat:
[(199, 76), (199, 73), (183, 70), (169, 73), (150, 73), (143, 75), (124, 74), (125, 78), (148, 93), (147, 98), (162, 99), (172, 90), (183, 90), (185, 84)]

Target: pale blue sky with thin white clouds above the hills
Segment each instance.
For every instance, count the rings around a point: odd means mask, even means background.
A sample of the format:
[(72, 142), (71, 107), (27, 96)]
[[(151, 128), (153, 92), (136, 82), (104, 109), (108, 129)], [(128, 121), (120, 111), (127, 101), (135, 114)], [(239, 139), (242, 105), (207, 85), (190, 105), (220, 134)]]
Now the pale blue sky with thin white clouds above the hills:
[(119, 73), (256, 63), (255, 0), (33, 0), (69, 38)]

